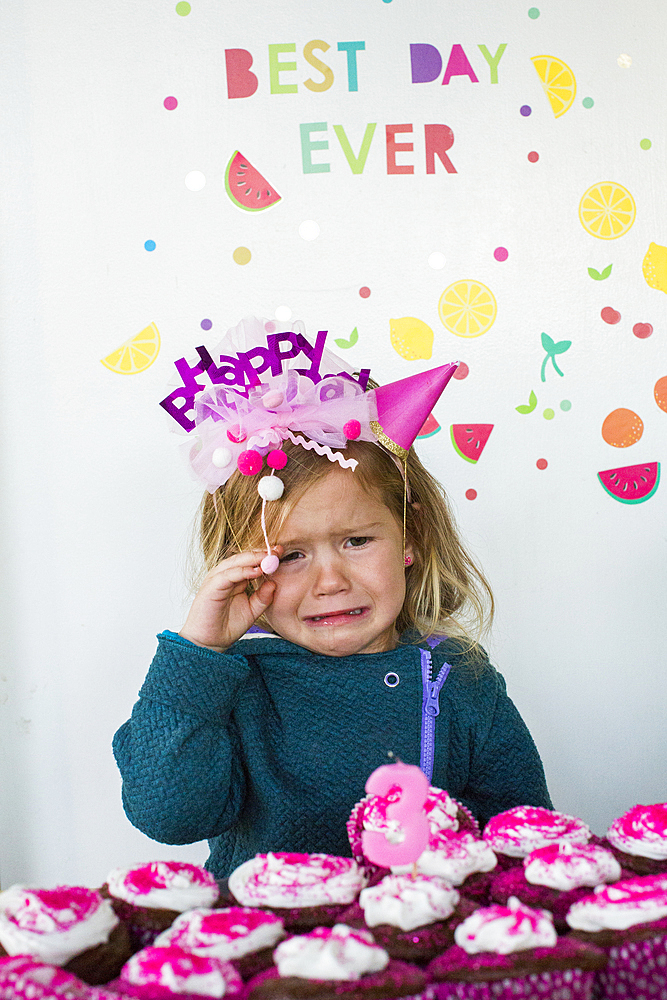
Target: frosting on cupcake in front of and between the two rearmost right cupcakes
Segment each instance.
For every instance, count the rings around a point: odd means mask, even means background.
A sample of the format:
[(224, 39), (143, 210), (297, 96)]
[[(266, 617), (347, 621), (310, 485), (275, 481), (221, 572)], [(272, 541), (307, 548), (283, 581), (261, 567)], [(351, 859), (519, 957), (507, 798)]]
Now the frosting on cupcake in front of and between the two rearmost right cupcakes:
[(540, 848), (524, 858), (524, 875), (531, 885), (546, 885), (559, 892), (603, 882), (616, 882), (621, 866), (611, 853), (596, 844), (561, 842)]

